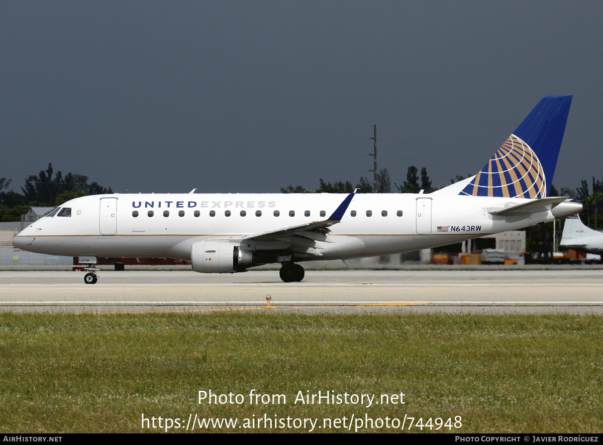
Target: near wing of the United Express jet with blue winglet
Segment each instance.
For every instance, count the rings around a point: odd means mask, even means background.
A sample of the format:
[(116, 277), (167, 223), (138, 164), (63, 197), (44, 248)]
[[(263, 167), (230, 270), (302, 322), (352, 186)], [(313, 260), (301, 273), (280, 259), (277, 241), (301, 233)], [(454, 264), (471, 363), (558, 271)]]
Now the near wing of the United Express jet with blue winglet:
[(324, 248), (323, 243), (333, 242), (326, 236), (330, 232), (329, 227), (341, 221), (355, 193), (356, 191), (347, 195), (333, 214), (325, 220), (245, 235), (239, 238), (241, 245), (248, 244), (249, 247), (260, 251), (286, 250), (297, 254), (320, 256), (319, 251)]

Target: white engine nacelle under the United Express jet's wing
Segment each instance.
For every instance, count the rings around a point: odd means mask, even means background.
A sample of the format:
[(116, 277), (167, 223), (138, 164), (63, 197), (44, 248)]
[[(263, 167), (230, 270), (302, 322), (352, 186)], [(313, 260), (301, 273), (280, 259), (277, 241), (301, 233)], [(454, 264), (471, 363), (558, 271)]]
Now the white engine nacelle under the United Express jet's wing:
[(253, 266), (253, 254), (228, 242), (200, 241), (191, 246), (191, 263), (195, 272), (243, 272)]

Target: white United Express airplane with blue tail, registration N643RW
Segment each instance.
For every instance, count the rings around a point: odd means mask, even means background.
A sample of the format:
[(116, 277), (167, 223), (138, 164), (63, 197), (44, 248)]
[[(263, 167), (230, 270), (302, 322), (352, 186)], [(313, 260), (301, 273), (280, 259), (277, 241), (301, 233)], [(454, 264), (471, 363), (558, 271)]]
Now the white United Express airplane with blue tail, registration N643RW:
[(572, 96), (547, 96), (477, 175), (433, 193), (100, 194), (65, 202), (13, 245), (80, 257), (94, 284), (98, 257), (170, 257), (201, 273), (399, 254), (551, 222), (582, 205), (549, 196)]

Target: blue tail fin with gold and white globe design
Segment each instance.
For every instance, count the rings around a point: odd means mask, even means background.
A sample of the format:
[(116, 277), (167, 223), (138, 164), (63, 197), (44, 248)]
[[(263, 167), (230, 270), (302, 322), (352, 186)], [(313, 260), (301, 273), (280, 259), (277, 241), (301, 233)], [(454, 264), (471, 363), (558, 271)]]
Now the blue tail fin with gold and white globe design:
[(572, 96), (546, 96), (459, 194), (549, 196)]

